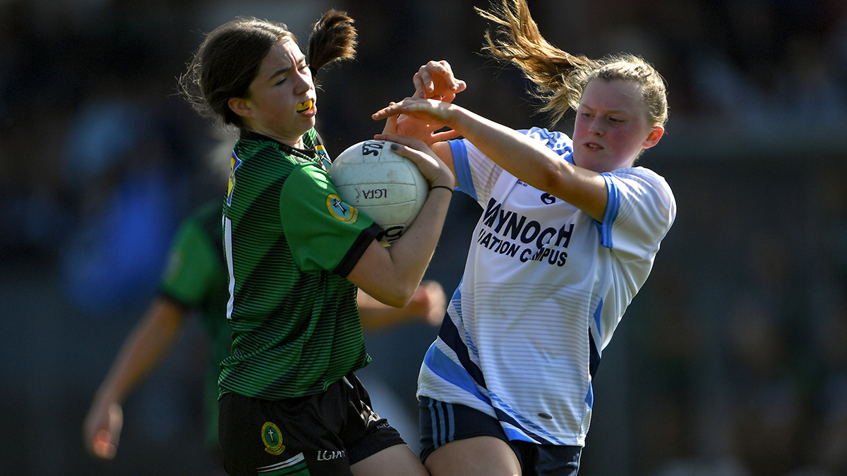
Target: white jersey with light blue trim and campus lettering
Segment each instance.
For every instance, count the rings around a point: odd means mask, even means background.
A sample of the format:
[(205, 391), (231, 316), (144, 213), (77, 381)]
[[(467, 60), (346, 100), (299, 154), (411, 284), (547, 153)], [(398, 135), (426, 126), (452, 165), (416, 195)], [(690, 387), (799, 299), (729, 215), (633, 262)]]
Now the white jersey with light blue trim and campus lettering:
[[(521, 132), (573, 163), (561, 132)], [(484, 212), (418, 396), (485, 412), (510, 440), (584, 446), (591, 379), (673, 224), (673, 193), (649, 169), (602, 174), (609, 200), (600, 224), (467, 140), (450, 145), (459, 190)]]

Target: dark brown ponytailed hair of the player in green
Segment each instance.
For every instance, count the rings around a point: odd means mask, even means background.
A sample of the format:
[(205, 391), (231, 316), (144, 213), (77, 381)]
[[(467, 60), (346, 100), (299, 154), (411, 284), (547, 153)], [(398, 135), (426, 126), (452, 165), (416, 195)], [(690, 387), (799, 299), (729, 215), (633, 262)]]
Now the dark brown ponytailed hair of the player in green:
[[(313, 26), (307, 63), (313, 73), (327, 64), (356, 54), (356, 29), (344, 12), (329, 10)], [(185, 74), (180, 92), (197, 113), (221, 125), (244, 124), (230, 109), (230, 97), (246, 97), (259, 64), (275, 44), (296, 37), (284, 23), (237, 18), (206, 36)]]

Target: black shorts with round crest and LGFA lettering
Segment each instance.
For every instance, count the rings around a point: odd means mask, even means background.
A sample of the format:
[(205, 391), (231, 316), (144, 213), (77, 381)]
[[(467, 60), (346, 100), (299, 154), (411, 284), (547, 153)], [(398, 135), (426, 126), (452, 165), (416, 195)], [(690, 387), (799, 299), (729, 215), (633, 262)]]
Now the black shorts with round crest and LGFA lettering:
[(404, 443), (352, 373), (317, 395), (271, 401), (228, 393), (218, 433), (232, 476), (352, 474), (350, 465)]

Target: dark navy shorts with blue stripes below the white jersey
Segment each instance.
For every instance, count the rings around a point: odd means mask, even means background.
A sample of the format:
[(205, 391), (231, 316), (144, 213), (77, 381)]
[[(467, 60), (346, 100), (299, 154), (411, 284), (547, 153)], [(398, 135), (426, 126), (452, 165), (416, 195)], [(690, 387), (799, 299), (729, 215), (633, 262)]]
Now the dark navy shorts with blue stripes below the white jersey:
[(509, 440), (500, 422), (484, 412), (457, 403), (422, 396), (418, 403), (421, 425), (421, 461), (439, 446), (475, 436), (494, 436), (515, 452), (523, 476), (576, 476), (582, 446), (538, 445)]

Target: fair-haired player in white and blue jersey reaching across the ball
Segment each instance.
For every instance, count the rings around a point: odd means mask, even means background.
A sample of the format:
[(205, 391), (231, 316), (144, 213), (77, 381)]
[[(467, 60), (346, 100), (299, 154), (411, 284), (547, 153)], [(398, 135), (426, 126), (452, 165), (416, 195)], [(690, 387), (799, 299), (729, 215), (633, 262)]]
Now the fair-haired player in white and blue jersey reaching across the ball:
[(667, 121), (656, 69), (628, 54), (572, 56), (545, 42), (523, 0), (504, 6), (479, 11), (507, 33), (486, 35), (486, 49), (539, 86), (556, 120), (576, 110), (573, 138), (438, 101), (455, 83), (444, 62), (418, 71), (416, 97), (374, 114), (411, 117), (403, 133), (415, 122), (461, 133), (433, 150), (484, 210), (418, 378), (434, 476), (577, 473), (601, 351), (676, 215), (667, 182), (634, 167)]

